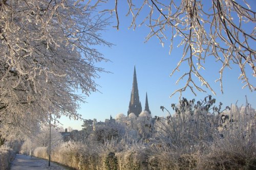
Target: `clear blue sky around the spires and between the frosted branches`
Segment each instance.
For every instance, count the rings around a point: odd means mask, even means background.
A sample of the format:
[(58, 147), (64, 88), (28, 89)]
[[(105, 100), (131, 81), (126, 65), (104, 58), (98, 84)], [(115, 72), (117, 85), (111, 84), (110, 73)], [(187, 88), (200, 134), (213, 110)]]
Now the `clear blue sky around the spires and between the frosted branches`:
[[(183, 64), (180, 72), (176, 72), (173, 77), (169, 77), (172, 70), (179, 61), (183, 48), (177, 47), (179, 41), (174, 41), (172, 54), (169, 55), (169, 39), (166, 40), (164, 47), (159, 43), (159, 40), (153, 37), (150, 41), (144, 43), (145, 37), (149, 33), (149, 29), (145, 26), (136, 28), (135, 31), (127, 28), (131, 23), (131, 16), (125, 17), (127, 12), (126, 1), (119, 1), (119, 19), (120, 28), (117, 31), (112, 28), (116, 25), (115, 17), (113, 23), (104, 32), (102, 37), (113, 45), (111, 48), (105, 46), (97, 47), (105, 58), (111, 62), (97, 63), (97, 66), (111, 71), (112, 74), (102, 73), (100, 78), (96, 79), (96, 83), (100, 85), (100, 92), (92, 93), (86, 100), (87, 103), (81, 104), (77, 110), (84, 119), (96, 118), (97, 121), (104, 121), (112, 115), (114, 118), (117, 114), (123, 113), (127, 115), (129, 107), (134, 65), (136, 65), (137, 82), (139, 89), (139, 97), (142, 105), (142, 110), (145, 107), (145, 96), (147, 92), (148, 104), (152, 115), (166, 115), (160, 110), (160, 106), (164, 106), (172, 111), (170, 105), (178, 103), (179, 94), (169, 98), (176, 89), (184, 86), (184, 81), (179, 85), (175, 85), (177, 79), (187, 69), (187, 64)], [(254, 10), (255, 11), (255, 10)], [(255, 44), (256, 45), (256, 44)], [(217, 104), (222, 102), (227, 106), (238, 101), (238, 105), (245, 104), (245, 95), (253, 108), (256, 108), (255, 91), (250, 92), (249, 89), (242, 89), (242, 82), (238, 80), (239, 69), (225, 69), (223, 75), (224, 94), (221, 93), (219, 82), (215, 80), (219, 78), (219, 69), (221, 65), (215, 62), (214, 57), (209, 56), (205, 64), (206, 70), (201, 70), (208, 83), (214, 88), (217, 93), (214, 96), (209, 90), (207, 93), (197, 93), (195, 96), (190, 91), (183, 93), (183, 96), (190, 99), (204, 99), (205, 96), (211, 94), (217, 99)], [(196, 80), (196, 79), (195, 79)], [(256, 84), (255, 78), (251, 77), (253, 85)], [(200, 82), (197, 82), (199, 85)], [(205, 88), (204, 88), (205, 89)], [(70, 120), (62, 117), (60, 122), (63, 128), (69, 126), (73, 129), (80, 130), (82, 122), (80, 120)]]

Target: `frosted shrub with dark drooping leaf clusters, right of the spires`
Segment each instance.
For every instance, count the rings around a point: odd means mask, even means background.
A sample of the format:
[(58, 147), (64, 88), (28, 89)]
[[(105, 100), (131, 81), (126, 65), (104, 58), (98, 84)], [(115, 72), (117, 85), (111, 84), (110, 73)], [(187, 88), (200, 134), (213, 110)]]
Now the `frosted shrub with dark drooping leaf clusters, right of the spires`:
[(155, 116), (155, 137), (168, 143), (170, 147), (179, 149), (190, 148), (190, 145), (194, 146), (199, 142), (212, 142), (222, 113), (222, 104), (215, 107), (215, 102), (211, 95), (198, 102), (183, 98), (178, 105), (172, 104), (174, 114), (161, 106), (162, 111), (166, 110), (169, 115)]

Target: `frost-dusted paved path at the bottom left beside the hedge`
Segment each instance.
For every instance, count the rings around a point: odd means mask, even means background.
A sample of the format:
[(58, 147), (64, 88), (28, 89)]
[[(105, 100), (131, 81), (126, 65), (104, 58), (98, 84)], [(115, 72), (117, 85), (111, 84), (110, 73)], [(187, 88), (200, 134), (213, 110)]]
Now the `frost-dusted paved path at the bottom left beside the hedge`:
[(62, 170), (69, 169), (67, 167), (60, 166), (51, 162), (51, 166), (48, 166), (48, 160), (35, 158), (26, 155), (16, 155), (11, 165), (11, 170)]

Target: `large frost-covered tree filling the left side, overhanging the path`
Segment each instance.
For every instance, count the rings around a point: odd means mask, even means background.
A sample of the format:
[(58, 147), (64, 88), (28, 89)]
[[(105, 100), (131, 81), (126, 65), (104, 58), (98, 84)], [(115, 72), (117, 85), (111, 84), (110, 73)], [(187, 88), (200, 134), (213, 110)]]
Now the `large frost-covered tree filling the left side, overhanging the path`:
[(100, 33), (108, 19), (75, 0), (1, 0), (0, 16), (0, 133), (77, 119), (104, 71), (95, 46), (111, 45)]

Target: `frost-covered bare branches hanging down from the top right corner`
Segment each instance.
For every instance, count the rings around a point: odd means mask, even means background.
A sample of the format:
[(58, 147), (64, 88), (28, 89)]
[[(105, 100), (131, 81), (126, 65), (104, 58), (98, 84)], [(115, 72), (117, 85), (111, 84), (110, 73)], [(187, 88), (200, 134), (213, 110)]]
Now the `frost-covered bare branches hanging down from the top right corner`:
[(152, 37), (157, 37), (162, 45), (170, 41), (169, 54), (177, 44), (183, 48), (182, 56), (178, 56), (180, 61), (170, 74), (173, 76), (182, 64), (188, 64), (188, 69), (182, 71), (184, 74), (176, 82), (178, 84), (180, 80), (186, 80), (184, 86), (171, 95), (180, 93), (181, 96), (186, 89), (190, 89), (195, 95), (196, 90), (206, 92), (201, 85), (215, 94), (202, 74), (202, 69), (210, 69), (214, 64), (205, 64), (213, 62), (210, 58), (217, 62), (214, 66), (219, 69), (220, 76), (216, 82), (220, 82), (222, 92), (222, 78), (226, 68), (240, 70), (238, 78), (242, 81), (243, 88), (251, 91), (256, 89), (256, 12), (253, 3), (254, 1), (238, 0), (127, 0), (127, 3), (123, 3), (116, 0), (113, 9), (106, 11), (116, 15), (118, 29), (121, 13), (118, 9), (128, 4), (127, 15), (132, 16), (130, 28), (143, 25), (148, 27), (146, 41)]

